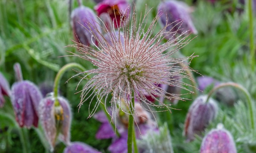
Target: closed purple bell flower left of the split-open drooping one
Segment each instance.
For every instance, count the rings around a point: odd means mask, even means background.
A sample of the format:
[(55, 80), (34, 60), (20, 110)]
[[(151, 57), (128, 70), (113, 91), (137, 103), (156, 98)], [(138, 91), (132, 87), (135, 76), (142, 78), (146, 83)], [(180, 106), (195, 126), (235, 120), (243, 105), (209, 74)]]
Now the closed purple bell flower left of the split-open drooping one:
[(35, 84), (30, 81), (20, 81), (12, 85), (11, 101), (20, 127), (30, 128), (38, 125), (38, 106), (43, 98)]

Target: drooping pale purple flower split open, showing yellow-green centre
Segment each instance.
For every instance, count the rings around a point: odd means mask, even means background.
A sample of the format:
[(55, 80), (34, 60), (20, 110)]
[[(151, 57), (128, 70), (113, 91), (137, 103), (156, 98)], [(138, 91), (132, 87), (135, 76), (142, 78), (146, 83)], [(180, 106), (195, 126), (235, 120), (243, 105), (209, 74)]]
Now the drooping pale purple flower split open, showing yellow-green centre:
[[(60, 106), (55, 106), (56, 100), (59, 101)], [(46, 97), (40, 102), (39, 113), (51, 149), (53, 150), (58, 136), (61, 141), (69, 144), (72, 117), (68, 101), (62, 97), (57, 99), (52, 96)]]

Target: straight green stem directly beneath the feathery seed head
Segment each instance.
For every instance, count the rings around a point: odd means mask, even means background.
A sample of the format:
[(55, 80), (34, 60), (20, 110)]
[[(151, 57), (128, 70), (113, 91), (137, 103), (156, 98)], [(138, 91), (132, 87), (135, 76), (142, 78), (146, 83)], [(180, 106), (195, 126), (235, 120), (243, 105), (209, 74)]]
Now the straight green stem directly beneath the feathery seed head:
[[(130, 103), (130, 115), (129, 115), (129, 124), (128, 124), (128, 139), (127, 139), (127, 146), (128, 146), (128, 153), (132, 153), (132, 141), (133, 141), (133, 138), (134, 137), (134, 134), (135, 131), (133, 130), (134, 128), (134, 118), (133, 118), (133, 108), (134, 108), (134, 97), (133, 97), (133, 92), (132, 92), (132, 101)], [(136, 139), (136, 137), (135, 137)], [(136, 142), (136, 140), (135, 140)], [(136, 144), (135, 144), (136, 146)], [(136, 146), (137, 148), (137, 146)]]

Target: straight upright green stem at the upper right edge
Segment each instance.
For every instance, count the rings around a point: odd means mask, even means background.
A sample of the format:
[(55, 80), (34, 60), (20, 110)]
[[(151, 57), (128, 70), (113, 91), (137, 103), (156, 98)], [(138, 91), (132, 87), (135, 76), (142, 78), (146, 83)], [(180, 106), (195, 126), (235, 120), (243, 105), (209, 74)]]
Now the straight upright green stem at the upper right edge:
[(249, 31), (250, 31), (250, 57), (251, 57), (252, 70), (254, 71), (254, 68), (255, 68), (255, 57), (254, 57), (252, 0), (248, 1), (248, 11), (249, 11)]

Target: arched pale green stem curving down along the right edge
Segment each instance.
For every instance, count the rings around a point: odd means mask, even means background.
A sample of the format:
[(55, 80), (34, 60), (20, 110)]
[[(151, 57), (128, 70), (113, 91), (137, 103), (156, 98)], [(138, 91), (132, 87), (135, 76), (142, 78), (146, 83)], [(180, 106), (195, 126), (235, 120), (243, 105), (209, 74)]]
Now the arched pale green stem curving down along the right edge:
[(248, 91), (242, 87), (241, 85), (239, 84), (236, 84), (236, 83), (233, 83), (233, 82), (228, 82), (228, 83), (222, 83), (222, 84), (219, 84), (217, 85), (216, 87), (214, 87), (209, 93), (208, 93), (208, 97), (206, 99), (206, 102), (209, 100), (209, 98), (211, 97), (211, 95), (217, 91), (218, 89), (222, 88), (222, 87), (227, 87), (227, 86), (232, 86), (232, 87), (235, 87), (237, 89), (239, 89), (240, 91), (242, 91), (244, 93), (244, 95), (246, 96), (246, 99), (247, 99), (247, 102), (248, 102), (248, 107), (249, 107), (249, 114), (250, 114), (250, 120), (251, 120), (251, 126), (252, 126), (252, 129), (254, 129), (255, 127), (255, 120), (254, 120), (254, 106), (253, 106), (253, 103), (252, 103), (252, 99), (251, 99), (251, 96), (250, 94), (248, 93)]

